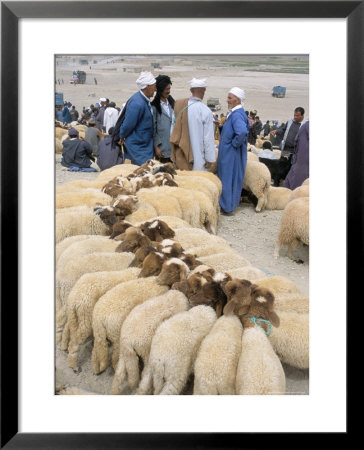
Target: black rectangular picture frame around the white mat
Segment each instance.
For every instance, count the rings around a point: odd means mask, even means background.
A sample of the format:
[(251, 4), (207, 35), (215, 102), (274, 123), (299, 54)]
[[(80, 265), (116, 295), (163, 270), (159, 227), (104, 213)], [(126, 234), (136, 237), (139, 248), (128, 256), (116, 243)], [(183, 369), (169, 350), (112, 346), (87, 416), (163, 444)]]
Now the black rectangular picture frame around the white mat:
[[(21, 18), (346, 18), (347, 19), (347, 298), (359, 289), (363, 253), (364, 2), (363, 1), (123, 1), (1, 2), (1, 448), (182, 449), (260, 448), (292, 433), (19, 433), (18, 432), (18, 21)], [(6, 95), (5, 95), (6, 94)], [(339, 92), (333, 95), (340, 95)], [(7, 107), (12, 105), (12, 114)], [(345, 118), (330, 111), (337, 123)], [(341, 113), (341, 114), (340, 114)], [(11, 151), (10, 151), (11, 150)], [(339, 186), (333, 180), (331, 194)], [(355, 251), (354, 251), (355, 250)], [(11, 296), (11, 298), (9, 298)], [(9, 301), (11, 300), (11, 301)], [(349, 308), (347, 307), (349, 315)], [(11, 345), (9, 345), (11, 342)], [(348, 349), (350, 346), (348, 345)], [(349, 358), (348, 358), (349, 361)], [(219, 412), (227, 417), (228, 411)], [(244, 437), (242, 437), (244, 434)], [(338, 433), (335, 441), (349, 436)], [(317, 434), (315, 439), (317, 439)], [(312, 439), (300, 437), (300, 444)], [(320, 439), (321, 440), (321, 439)], [(317, 441), (316, 441), (317, 442)]]

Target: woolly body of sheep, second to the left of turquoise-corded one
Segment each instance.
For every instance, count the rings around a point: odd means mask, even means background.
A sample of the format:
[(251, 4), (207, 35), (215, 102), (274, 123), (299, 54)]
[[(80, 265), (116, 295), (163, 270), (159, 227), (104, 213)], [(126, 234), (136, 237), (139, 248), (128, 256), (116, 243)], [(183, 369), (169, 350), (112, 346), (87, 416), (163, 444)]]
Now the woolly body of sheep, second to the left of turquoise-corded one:
[(216, 321), (209, 306), (196, 306), (163, 322), (157, 329), (137, 394), (177, 395), (185, 386), (198, 349)]

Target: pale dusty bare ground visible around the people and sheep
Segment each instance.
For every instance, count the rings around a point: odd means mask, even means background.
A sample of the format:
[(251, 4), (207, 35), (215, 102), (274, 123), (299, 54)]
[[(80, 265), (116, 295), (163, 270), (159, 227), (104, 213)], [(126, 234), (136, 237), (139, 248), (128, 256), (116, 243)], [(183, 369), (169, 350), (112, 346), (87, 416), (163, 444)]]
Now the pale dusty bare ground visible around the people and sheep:
[[(76, 105), (81, 112), (82, 106), (88, 107), (96, 103), (99, 97), (107, 97), (121, 106), (137, 89), (135, 80), (138, 73), (124, 72), (134, 70), (135, 67), (142, 70), (151, 70), (150, 61), (156, 58), (144, 58), (141, 61), (116, 62), (121, 57), (101, 58), (90, 57), (91, 69), (88, 66), (80, 66), (73, 62), (74, 58), (60, 58), (56, 64), (56, 80), (64, 80), (64, 84), (56, 86), (57, 92), (63, 92), (64, 99)], [(125, 57), (126, 58), (126, 57)], [(111, 62), (114, 61), (114, 62)], [(208, 88), (206, 98), (218, 97), (223, 105), (218, 113), (226, 113), (225, 98), (228, 90), (233, 86), (239, 86), (246, 93), (246, 109), (256, 109), (263, 123), (266, 120), (286, 121), (293, 115), (293, 109), (302, 106), (308, 117), (308, 74), (307, 73), (270, 73), (260, 71), (247, 71), (242, 67), (226, 65), (218, 67), (216, 61), (193, 61), (194, 65), (184, 64), (186, 61), (174, 65), (162, 65), (162, 70), (153, 70), (167, 74), (172, 78), (172, 95), (174, 98), (188, 96), (188, 81), (193, 77), (206, 77)], [(231, 63), (231, 62), (230, 62)], [(164, 64), (164, 63), (162, 63)], [(256, 66), (253, 65), (253, 69)], [(86, 84), (74, 86), (67, 84), (73, 70), (85, 70), (87, 73)], [(269, 67), (268, 67), (269, 69)], [(263, 69), (262, 69), (263, 70)], [(267, 67), (264, 67), (267, 70)], [(93, 78), (96, 76), (98, 84)], [(92, 81), (92, 83), (91, 83)], [(287, 87), (287, 96), (284, 99), (276, 99), (271, 96), (274, 85)], [(205, 99), (204, 99), (205, 100)], [(61, 164), (61, 155), (55, 155), (55, 185), (66, 183), (74, 179), (92, 180), (97, 173), (68, 172)], [(300, 246), (293, 251), (293, 259), (286, 256), (285, 249), (280, 252), (278, 260), (274, 259), (274, 244), (278, 236), (282, 211), (262, 211), (256, 213), (252, 204), (241, 203), (233, 216), (220, 216), (217, 235), (226, 239), (230, 245), (239, 251), (250, 263), (262, 269), (267, 275), (282, 275), (297, 284), (302, 293), (309, 294), (309, 249)], [(94, 375), (91, 370), (90, 356), (92, 340), (86, 341), (80, 353), (82, 371), (75, 374), (67, 366), (67, 354), (55, 350), (55, 385), (77, 386), (98, 394), (110, 392), (113, 379), (113, 369), (109, 367), (104, 373)], [(288, 365), (283, 365), (286, 374), (286, 393), (301, 395), (309, 393), (309, 371), (299, 370)], [(185, 394), (190, 394), (191, 385), (187, 385)], [(126, 392), (127, 393), (127, 392)]]

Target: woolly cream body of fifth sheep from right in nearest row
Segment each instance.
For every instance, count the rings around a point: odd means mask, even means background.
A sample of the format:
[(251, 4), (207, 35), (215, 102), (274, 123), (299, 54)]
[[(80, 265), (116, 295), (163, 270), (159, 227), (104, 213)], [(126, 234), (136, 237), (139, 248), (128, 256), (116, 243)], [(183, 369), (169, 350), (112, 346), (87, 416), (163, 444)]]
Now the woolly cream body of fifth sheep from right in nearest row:
[(130, 311), (168, 289), (168, 286), (157, 284), (156, 277), (138, 278), (113, 287), (99, 299), (92, 314), (94, 348), (91, 359), (95, 374), (103, 372), (109, 365), (107, 341), (113, 345), (112, 365), (116, 368), (120, 354), (120, 330)]

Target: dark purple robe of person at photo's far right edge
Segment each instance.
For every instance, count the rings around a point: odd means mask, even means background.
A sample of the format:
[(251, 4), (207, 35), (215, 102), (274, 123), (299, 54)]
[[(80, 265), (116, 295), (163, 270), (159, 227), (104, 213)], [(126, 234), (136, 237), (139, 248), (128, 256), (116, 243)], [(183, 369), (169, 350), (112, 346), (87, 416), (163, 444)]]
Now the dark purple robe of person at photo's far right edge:
[(309, 122), (305, 122), (299, 129), (293, 154), (295, 155), (294, 163), (292, 164), (283, 186), (289, 189), (296, 189), (301, 186), (306, 178), (309, 178), (309, 144), (310, 144), (310, 126)]

